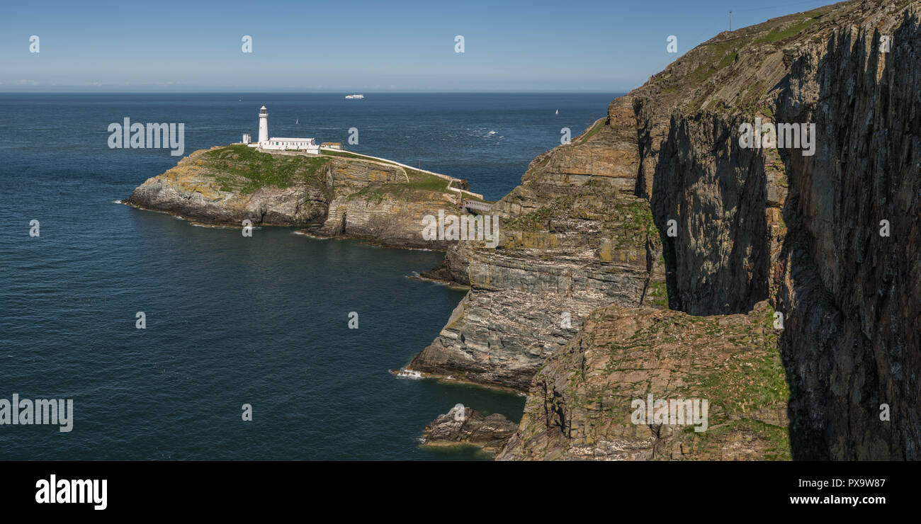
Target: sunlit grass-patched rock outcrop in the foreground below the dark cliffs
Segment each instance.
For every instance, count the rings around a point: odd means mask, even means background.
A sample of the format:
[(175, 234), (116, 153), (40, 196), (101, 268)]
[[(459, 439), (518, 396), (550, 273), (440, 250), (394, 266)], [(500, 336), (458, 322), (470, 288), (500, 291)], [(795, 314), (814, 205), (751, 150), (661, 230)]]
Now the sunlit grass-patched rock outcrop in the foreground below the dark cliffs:
[[(534, 377), (520, 430), (498, 459), (789, 459), (773, 312), (766, 302), (710, 317), (596, 310)], [(674, 420), (647, 417), (649, 395), (648, 410), (669, 402)], [(685, 409), (689, 401), (706, 404)]]

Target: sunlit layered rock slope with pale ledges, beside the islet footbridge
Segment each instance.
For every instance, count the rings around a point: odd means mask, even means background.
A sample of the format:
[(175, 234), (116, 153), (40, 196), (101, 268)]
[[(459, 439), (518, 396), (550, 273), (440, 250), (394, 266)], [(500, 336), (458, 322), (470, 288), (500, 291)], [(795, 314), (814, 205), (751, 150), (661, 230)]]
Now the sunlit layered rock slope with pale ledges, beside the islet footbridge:
[(461, 241), (437, 274), (471, 290), (409, 367), (527, 390), (542, 362), (589, 313), (615, 303), (664, 306), (659, 231), (634, 192), (630, 99), (573, 144), (535, 158), (493, 204), (495, 249)]

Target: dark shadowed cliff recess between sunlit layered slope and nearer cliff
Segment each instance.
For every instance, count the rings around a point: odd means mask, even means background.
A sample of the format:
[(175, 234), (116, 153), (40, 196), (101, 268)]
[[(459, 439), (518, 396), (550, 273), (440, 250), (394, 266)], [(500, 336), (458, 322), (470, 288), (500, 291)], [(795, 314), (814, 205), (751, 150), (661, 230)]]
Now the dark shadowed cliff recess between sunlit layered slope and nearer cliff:
[[(649, 205), (662, 239), (670, 309), (748, 313), (768, 297), (764, 158), (734, 145), (739, 118), (708, 111), (673, 117), (660, 144)], [(676, 237), (667, 235), (670, 220)]]

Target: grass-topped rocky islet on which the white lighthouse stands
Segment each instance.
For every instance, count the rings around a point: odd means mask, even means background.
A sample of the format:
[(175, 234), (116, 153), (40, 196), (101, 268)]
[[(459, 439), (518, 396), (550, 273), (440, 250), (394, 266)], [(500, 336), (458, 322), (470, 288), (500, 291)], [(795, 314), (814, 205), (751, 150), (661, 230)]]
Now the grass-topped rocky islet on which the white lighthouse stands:
[[(126, 203), (206, 224), (305, 226), (317, 236), (446, 249), (422, 238), (423, 217), (461, 214), (448, 180), (360, 157), (264, 153), (247, 146), (198, 150), (146, 180)], [(466, 181), (454, 187), (467, 189)]]

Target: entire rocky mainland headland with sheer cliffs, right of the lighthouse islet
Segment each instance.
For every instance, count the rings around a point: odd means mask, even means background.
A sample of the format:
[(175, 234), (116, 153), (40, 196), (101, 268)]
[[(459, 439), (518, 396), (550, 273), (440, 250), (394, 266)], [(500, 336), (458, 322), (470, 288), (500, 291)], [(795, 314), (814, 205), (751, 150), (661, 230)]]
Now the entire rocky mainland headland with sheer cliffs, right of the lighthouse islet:
[[(499, 459), (918, 459), (918, 50), (921, 3), (852, 1), (687, 52), (449, 249), (471, 290), (410, 367), (528, 392)], [(648, 394), (708, 429), (635, 424)]]

